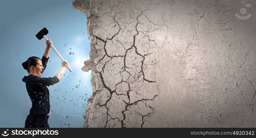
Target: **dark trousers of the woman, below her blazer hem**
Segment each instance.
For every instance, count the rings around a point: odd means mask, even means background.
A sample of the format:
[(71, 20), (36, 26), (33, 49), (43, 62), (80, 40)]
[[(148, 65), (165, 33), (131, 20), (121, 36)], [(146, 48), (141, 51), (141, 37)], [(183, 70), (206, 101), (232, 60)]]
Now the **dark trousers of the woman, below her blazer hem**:
[(25, 128), (26, 127), (46, 127), (46, 128), (49, 128), (48, 118), (49, 118), (49, 115), (39, 115), (39, 114), (28, 115), (27, 119), (25, 121)]

